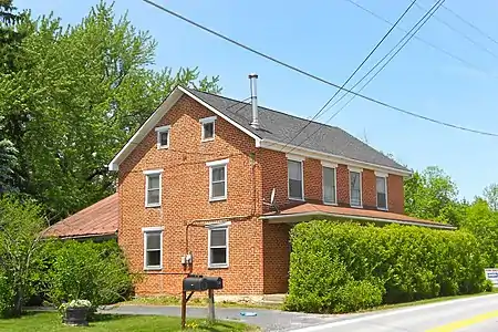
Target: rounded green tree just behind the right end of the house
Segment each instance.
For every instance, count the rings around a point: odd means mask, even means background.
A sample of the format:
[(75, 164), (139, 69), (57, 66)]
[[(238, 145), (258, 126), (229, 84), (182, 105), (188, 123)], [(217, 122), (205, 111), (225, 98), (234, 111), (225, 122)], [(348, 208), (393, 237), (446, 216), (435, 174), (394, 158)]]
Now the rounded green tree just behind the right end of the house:
[(405, 212), (458, 225), (465, 207), (458, 203), (457, 195), (457, 186), (448, 175), (438, 167), (427, 167), (405, 180)]

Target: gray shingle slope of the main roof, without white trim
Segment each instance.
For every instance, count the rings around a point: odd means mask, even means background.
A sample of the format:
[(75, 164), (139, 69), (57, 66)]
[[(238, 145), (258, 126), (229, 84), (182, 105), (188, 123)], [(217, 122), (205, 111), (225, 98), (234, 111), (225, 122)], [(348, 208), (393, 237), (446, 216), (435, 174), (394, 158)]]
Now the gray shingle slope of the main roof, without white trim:
[[(188, 89), (188, 91), (263, 139), (272, 139), (287, 144), (308, 123), (305, 118), (258, 106), (260, 128), (255, 129), (250, 126), (252, 120), (250, 103), (242, 103), (193, 89)], [(319, 131), (313, 134), (317, 129)], [(312, 136), (309, 137), (310, 135)], [(406, 167), (397, 164), (343, 129), (318, 122), (312, 122), (292, 141), (291, 145), (409, 172)]]

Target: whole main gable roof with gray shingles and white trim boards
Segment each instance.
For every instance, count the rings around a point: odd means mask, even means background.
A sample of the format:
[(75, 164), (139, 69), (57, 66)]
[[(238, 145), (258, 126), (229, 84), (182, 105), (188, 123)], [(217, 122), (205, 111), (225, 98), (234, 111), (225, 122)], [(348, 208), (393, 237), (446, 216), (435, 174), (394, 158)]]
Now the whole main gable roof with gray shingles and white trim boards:
[[(359, 166), (380, 166), (381, 168), (394, 170), (401, 175), (409, 175), (412, 173), (406, 167), (339, 127), (311, 122), (304, 131), (295, 136), (308, 124), (308, 120), (258, 106), (260, 127), (256, 129), (250, 125), (252, 121), (250, 103), (183, 86), (177, 86), (169, 94), (114, 157), (108, 165), (111, 170), (117, 170), (118, 164), (129, 155), (136, 144), (147, 135), (183, 94), (193, 97), (218, 116), (255, 138), (256, 146), (278, 148), (283, 152), (293, 152), (295, 149), (295, 153), (299, 151), (318, 153), (322, 156), (345, 160), (346, 163), (356, 162), (360, 164)], [(294, 139), (289, 144), (292, 138)]]

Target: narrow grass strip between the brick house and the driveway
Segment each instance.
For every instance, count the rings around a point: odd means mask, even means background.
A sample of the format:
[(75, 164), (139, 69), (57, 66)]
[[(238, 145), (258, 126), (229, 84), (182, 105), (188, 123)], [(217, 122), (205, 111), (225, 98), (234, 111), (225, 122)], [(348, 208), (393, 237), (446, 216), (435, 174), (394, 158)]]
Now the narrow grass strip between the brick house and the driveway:
[[(281, 304), (259, 304), (251, 302), (229, 302), (229, 301), (216, 301), (217, 308), (262, 308), (262, 309), (282, 309)], [(126, 302), (117, 303), (117, 305), (136, 304), (136, 305), (180, 305), (179, 297), (149, 297), (149, 298), (136, 298)], [(190, 299), (187, 303), (188, 307), (206, 307), (207, 299), (195, 298)]]

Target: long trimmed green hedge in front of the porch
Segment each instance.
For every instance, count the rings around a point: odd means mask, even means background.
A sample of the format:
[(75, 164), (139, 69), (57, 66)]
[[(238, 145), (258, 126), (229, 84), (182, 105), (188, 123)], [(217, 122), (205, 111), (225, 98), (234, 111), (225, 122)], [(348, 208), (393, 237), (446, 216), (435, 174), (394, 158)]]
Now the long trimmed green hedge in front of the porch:
[(297, 225), (291, 241), (288, 310), (351, 312), (489, 287), (464, 231), (317, 220)]

